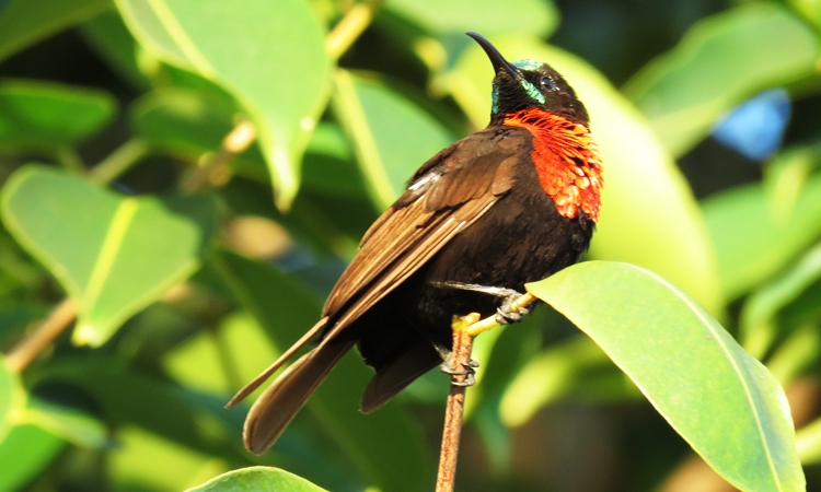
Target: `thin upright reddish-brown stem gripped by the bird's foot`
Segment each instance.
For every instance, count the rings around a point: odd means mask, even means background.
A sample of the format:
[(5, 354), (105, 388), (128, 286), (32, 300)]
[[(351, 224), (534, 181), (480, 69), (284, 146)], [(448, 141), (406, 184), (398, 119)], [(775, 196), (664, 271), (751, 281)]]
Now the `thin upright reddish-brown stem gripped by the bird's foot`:
[[(453, 370), (463, 371), (471, 361), (473, 337), (470, 327), (479, 319), (476, 313), (453, 319)], [(453, 375), (452, 383), (464, 383), (466, 375)], [(436, 480), (436, 492), (451, 492), (456, 476), (459, 440), (462, 434), (462, 415), (464, 413), (465, 386), (451, 384), (448, 405), (444, 411), (444, 430), (442, 446), (439, 452), (439, 471)]]

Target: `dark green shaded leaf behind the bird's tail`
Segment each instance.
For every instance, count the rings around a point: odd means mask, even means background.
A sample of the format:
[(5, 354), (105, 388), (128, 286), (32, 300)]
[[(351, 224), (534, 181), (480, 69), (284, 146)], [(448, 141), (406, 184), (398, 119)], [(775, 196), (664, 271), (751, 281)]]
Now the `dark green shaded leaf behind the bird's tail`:
[[(277, 347), (289, 347), (319, 319), (320, 298), (294, 279), (233, 254), (221, 254), (218, 260), (238, 300)], [(433, 473), (432, 464), (420, 430), (402, 403), (393, 401), (369, 415), (359, 411), (361, 390), (372, 374), (358, 354), (348, 354), (311, 397), (307, 410), (369, 484), (383, 490), (424, 489)]]

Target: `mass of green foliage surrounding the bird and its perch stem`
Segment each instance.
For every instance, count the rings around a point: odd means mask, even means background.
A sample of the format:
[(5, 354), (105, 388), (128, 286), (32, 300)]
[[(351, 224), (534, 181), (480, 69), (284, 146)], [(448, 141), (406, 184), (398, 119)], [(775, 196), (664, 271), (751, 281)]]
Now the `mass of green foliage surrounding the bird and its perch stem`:
[[(786, 395), (821, 490), (820, 12), (0, 1), (0, 491), (430, 490), (436, 372), (363, 415), (349, 354), (263, 457), (247, 407), (222, 405), (315, 323), (410, 174), (486, 125), (469, 30), (587, 105), (605, 166), (589, 259), (609, 261), (533, 285), (555, 311), (477, 339), (458, 488), (726, 490), (689, 444), (743, 490), (803, 490)], [(786, 127), (732, 113), (770, 90)], [(730, 120), (770, 156), (712, 137)], [(21, 359), (58, 306), (77, 323)]]

